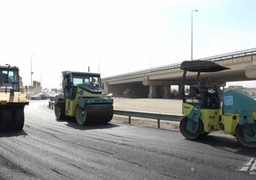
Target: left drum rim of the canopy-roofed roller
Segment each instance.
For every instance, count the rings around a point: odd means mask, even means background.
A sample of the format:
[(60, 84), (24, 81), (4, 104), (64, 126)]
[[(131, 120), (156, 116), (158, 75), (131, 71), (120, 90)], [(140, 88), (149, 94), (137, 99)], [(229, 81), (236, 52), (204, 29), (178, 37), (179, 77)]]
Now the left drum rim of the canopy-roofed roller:
[(187, 131), (186, 129), (186, 125), (188, 122), (188, 118), (184, 117), (183, 119), (181, 119), (180, 123), (179, 123), (179, 130), (180, 132), (184, 135), (184, 137), (188, 140), (196, 140), (197, 138), (200, 137), (200, 134), (203, 132), (203, 123), (200, 120), (200, 126), (199, 129), (196, 131), (196, 133), (191, 133), (189, 131)]

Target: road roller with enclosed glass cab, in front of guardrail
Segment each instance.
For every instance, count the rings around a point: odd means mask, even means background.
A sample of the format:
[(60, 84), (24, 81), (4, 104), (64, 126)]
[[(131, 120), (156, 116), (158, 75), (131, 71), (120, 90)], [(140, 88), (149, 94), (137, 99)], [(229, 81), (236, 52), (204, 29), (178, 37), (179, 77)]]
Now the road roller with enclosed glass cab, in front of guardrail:
[(108, 123), (113, 118), (113, 99), (103, 97), (101, 75), (64, 71), (63, 97), (55, 98), (56, 119), (75, 118), (79, 125)]

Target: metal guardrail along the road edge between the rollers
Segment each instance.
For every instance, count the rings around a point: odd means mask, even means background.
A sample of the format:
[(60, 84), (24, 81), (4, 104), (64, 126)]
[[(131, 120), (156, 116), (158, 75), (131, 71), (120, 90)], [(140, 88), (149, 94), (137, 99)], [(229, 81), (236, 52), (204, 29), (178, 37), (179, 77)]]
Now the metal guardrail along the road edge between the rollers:
[[(48, 107), (53, 109), (54, 102), (49, 101)], [(160, 121), (161, 120), (168, 120), (168, 121), (180, 121), (183, 116), (176, 115), (176, 114), (162, 114), (162, 113), (155, 113), (155, 112), (138, 112), (138, 111), (127, 111), (127, 110), (120, 110), (115, 109), (114, 114), (120, 116), (128, 116), (129, 124), (132, 124), (132, 117), (137, 118), (145, 118), (145, 119), (156, 119), (157, 120), (157, 127), (160, 128)]]

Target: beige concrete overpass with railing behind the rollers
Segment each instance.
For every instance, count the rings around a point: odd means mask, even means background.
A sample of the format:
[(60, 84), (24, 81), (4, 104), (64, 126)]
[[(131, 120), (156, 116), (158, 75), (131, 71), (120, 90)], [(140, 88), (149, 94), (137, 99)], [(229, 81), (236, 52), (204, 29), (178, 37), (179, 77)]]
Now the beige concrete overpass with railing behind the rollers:
[[(256, 80), (256, 48), (215, 55), (200, 60), (215, 61), (230, 68), (230, 70), (207, 75), (212, 83), (225, 86), (226, 82)], [(128, 94), (133, 97), (168, 98), (170, 86), (180, 85), (180, 79), (183, 75), (180, 64), (170, 64), (102, 78), (104, 93), (114, 93), (115, 96)], [(188, 74), (191, 79), (195, 79), (195, 76), (195, 73)]]

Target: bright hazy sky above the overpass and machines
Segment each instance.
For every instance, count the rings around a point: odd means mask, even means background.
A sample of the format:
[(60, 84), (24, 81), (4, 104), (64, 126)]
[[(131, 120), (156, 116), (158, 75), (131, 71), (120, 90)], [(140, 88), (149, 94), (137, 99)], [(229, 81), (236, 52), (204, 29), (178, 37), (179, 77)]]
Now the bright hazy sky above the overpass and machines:
[[(252, 0), (0, 0), (0, 61), (26, 85), (63, 70), (102, 77), (256, 47)], [(35, 55), (32, 55), (35, 54)], [(31, 56), (32, 55), (32, 56)], [(255, 86), (256, 83), (250, 83)]]

